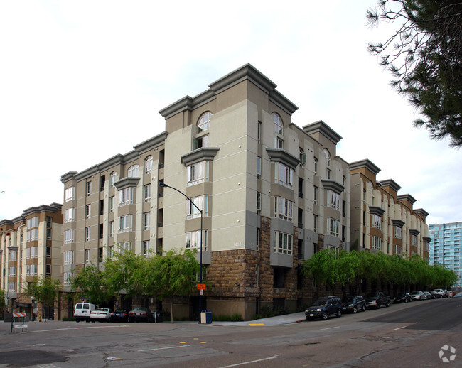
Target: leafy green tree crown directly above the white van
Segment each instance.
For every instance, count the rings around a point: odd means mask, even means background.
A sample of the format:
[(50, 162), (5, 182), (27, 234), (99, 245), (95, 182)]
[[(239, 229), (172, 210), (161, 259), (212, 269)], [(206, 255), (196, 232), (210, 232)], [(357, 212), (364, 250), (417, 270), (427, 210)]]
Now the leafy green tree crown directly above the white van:
[(113, 293), (107, 286), (107, 277), (95, 264), (86, 264), (71, 281), (77, 298), (85, 298), (97, 305), (107, 303)]

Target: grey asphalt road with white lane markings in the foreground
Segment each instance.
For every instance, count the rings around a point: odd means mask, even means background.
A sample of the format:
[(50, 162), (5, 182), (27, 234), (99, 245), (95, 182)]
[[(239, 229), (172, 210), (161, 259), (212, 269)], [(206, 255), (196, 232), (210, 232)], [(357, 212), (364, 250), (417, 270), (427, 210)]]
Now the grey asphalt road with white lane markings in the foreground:
[(461, 367), (461, 332), (460, 298), (310, 322), (0, 323), (0, 367)]

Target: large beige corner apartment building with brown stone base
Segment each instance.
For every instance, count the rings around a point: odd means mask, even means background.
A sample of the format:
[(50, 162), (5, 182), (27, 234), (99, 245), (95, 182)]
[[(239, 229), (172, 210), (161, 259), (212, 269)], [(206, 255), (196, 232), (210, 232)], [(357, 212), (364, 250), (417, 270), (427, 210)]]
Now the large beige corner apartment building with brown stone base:
[[(165, 183), (203, 212), (207, 308), (249, 319), (263, 305), (310, 301), (301, 261), (350, 248), (350, 174), (341, 136), (323, 121), (296, 126), (296, 109), (247, 64), (161, 109), (165, 131), (134, 151), (64, 174), (65, 288), (116, 245), (200, 249), (200, 212)], [(176, 315), (198, 310), (197, 297), (182, 303)]]

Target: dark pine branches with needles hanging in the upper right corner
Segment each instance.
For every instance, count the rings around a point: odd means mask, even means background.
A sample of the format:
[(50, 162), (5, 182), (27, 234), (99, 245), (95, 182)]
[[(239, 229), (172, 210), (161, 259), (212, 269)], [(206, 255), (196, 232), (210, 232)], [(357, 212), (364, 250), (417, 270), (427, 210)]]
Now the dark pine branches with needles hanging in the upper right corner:
[(370, 24), (399, 24), (370, 53), (394, 77), (392, 86), (417, 108), (432, 139), (448, 137), (462, 146), (462, 2), (460, 0), (379, 0), (367, 11)]

